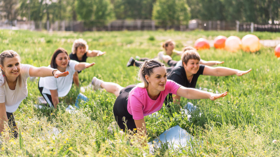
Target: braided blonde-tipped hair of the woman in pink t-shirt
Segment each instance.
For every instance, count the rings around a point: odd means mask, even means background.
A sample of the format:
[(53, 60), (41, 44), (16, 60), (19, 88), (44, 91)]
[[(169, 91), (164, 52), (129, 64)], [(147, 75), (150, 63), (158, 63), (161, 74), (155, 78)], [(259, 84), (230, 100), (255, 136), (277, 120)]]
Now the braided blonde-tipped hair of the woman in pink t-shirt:
[(138, 73), (138, 77), (143, 82), (143, 84), (139, 84), (138, 86), (141, 88), (147, 88), (149, 83), (147, 82), (145, 75), (151, 76), (151, 74), (153, 73), (153, 69), (155, 67), (162, 67), (162, 66), (165, 67), (165, 65), (163, 63), (161, 63), (157, 60), (154, 60), (154, 59), (145, 61), (141, 65), (139, 73)]

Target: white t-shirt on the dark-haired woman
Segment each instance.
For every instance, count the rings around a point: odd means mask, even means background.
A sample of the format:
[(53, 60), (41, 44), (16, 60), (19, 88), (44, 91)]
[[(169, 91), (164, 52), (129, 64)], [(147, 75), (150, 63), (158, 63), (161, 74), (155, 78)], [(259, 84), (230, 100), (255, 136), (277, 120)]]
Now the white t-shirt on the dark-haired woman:
[[(78, 63), (79, 62), (74, 60), (69, 61), (69, 65), (66, 67), (66, 71), (69, 71), (69, 75), (66, 77), (41, 77), (39, 80), (39, 87), (43, 87), (42, 93), (51, 95), (50, 90), (57, 89), (58, 97), (66, 96), (72, 87), (75, 65)], [(49, 65), (48, 67), (51, 66)]]

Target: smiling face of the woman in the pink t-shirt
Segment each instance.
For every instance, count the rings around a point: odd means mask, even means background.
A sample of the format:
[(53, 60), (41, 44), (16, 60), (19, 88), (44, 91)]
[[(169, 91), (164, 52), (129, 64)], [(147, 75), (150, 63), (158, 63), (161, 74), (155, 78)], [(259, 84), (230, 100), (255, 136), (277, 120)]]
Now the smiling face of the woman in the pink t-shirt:
[[(160, 92), (165, 89), (167, 81), (167, 73), (164, 66), (153, 68), (153, 73), (150, 76), (145, 76), (147, 82), (149, 82), (149, 90), (154, 92)], [(157, 94), (157, 93), (156, 93)]]

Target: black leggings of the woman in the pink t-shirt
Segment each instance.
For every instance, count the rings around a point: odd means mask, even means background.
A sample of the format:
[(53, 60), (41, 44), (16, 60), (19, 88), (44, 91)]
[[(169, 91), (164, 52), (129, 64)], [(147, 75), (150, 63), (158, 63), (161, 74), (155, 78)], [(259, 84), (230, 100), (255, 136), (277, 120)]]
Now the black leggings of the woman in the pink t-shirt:
[[(133, 131), (133, 129), (136, 128), (132, 115), (129, 114), (129, 112), (127, 111), (127, 101), (128, 101), (129, 92), (135, 86), (136, 85), (133, 84), (123, 88), (120, 91), (120, 95), (117, 97), (114, 103), (113, 113), (119, 127), (123, 129), (123, 131), (127, 131), (127, 130)], [(125, 117), (125, 122), (123, 121), (123, 117)]]

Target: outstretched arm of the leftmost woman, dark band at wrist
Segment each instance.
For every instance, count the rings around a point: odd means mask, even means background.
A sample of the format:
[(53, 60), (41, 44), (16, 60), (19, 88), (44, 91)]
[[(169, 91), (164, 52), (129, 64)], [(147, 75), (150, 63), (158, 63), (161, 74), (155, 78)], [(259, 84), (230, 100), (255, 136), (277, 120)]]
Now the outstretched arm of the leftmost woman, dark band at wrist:
[(65, 77), (69, 74), (68, 71), (61, 73), (60, 71), (53, 71), (55, 69), (49, 67), (34, 67), (31, 66), (29, 69), (29, 76), (30, 77), (48, 77), (54, 76), (55, 78), (58, 77)]

